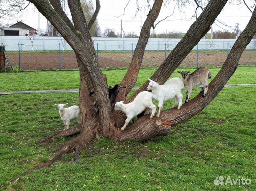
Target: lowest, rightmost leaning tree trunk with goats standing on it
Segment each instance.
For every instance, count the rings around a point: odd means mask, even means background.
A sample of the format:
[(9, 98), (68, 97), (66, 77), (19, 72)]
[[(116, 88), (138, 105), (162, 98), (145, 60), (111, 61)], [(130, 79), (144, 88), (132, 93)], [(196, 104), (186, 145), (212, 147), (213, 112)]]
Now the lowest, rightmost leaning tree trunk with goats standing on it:
[[(172, 123), (172, 126), (175, 126), (198, 114), (206, 106), (208, 106), (208, 104), (210, 104), (210, 102), (218, 95), (218, 93), (220, 93), (224, 85), (227, 83), (228, 79), (230, 79), (230, 77), (236, 71), (239, 59), (246, 46), (250, 43), (252, 37), (255, 35), (255, 33), (256, 8), (254, 9), (252, 17), (248, 25), (246, 26), (245, 30), (241, 33), (241, 35), (234, 43), (234, 46), (232, 47), (226, 61), (222, 65), (222, 69), (209, 84), (206, 96), (203, 98), (202, 93), (200, 93), (195, 98), (190, 100), (188, 103), (183, 104), (180, 110), (174, 108), (171, 110), (161, 112), (160, 118), (158, 118), (158, 120), (160, 120), (162, 123), (170, 121)], [(145, 120), (145, 116), (143, 118), (139, 118), (139, 120), (132, 124), (132, 126), (128, 126), (128, 128), (126, 128), (125, 131), (127, 132), (124, 131), (120, 133), (117, 139), (119, 139), (120, 141), (134, 139), (137, 140), (136, 137), (139, 137), (140, 133), (146, 135), (147, 139), (150, 138), (150, 135), (152, 135), (151, 138), (153, 138), (155, 134), (154, 132), (150, 131), (155, 130), (155, 121), (156, 118), (153, 118), (152, 120)], [(165, 134), (167, 130), (168, 128), (166, 127), (160, 129), (158, 134)]]

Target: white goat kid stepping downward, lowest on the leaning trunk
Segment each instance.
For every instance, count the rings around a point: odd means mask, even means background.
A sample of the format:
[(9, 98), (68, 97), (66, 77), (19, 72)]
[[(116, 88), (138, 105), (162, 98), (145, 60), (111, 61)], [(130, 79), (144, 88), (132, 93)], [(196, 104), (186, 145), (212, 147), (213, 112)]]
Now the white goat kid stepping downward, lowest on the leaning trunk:
[(150, 115), (150, 119), (153, 118), (156, 112), (156, 106), (152, 102), (152, 96), (153, 94), (148, 91), (143, 91), (139, 93), (132, 102), (128, 104), (124, 104), (124, 101), (116, 102), (114, 110), (121, 110), (126, 114), (126, 120), (124, 123), (124, 126), (122, 126), (121, 131), (123, 131), (126, 126), (129, 124), (130, 120), (134, 116), (137, 116), (141, 112), (143, 112), (145, 109), (145, 114), (149, 113), (149, 110), (152, 110), (152, 113)]

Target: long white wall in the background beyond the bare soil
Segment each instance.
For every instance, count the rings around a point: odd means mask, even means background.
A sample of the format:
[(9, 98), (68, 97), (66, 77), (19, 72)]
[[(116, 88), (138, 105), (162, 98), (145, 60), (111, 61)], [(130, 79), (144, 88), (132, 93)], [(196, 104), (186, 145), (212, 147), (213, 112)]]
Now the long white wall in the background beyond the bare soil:
[[(35, 37), (33, 48), (34, 50), (72, 50), (70, 45), (66, 43), (63, 47), (62, 42), (64, 41), (62, 37)], [(135, 49), (138, 38), (103, 38), (103, 37), (93, 37), (94, 47), (98, 50), (106, 51), (132, 51), (132, 43), (134, 44), (133, 49)], [(146, 45), (146, 50), (165, 50), (165, 45), (167, 50), (172, 50), (180, 39), (158, 39), (151, 38), (148, 40)], [(199, 50), (226, 50), (231, 49), (234, 45), (236, 39), (201, 39), (198, 43)], [(26, 36), (0, 36), (0, 44), (4, 44), (6, 50), (18, 50), (18, 43), (20, 43), (20, 50), (31, 50), (30, 39)], [(228, 47), (229, 44), (229, 47)], [(197, 45), (193, 50), (197, 49)], [(256, 49), (256, 39), (248, 44), (246, 49)]]

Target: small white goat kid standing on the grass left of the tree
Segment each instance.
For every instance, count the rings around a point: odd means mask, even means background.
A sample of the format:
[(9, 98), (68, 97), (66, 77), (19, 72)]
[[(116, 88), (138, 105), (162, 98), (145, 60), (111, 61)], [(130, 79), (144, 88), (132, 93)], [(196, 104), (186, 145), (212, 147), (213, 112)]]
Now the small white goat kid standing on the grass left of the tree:
[(82, 121), (82, 116), (79, 106), (73, 105), (68, 108), (65, 108), (66, 104), (54, 104), (59, 108), (59, 113), (62, 121), (64, 122), (64, 130), (69, 128), (70, 120), (76, 118), (80, 124)]

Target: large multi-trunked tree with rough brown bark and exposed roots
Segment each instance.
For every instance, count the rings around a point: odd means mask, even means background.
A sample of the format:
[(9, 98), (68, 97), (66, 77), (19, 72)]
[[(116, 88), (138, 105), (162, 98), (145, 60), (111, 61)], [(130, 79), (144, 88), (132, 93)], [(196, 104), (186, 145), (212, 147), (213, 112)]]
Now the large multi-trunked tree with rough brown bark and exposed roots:
[[(84, 16), (80, 0), (68, 0), (68, 7), (73, 22), (70, 21), (62, 10), (60, 0), (28, 1), (34, 4), (51, 22), (76, 53), (80, 70), (79, 106), (83, 116), (82, 124), (79, 126), (56, 132), (45, 139), (49, 140), (54, 135), (69, 136), (71, 134), (80, 133), (74, 140), (67, 142), (66, 146), (64, 146), (54, 158), (35, 169), (51, 165), (54, 161), (60, 159), (63, 154), (72, 150), (76, 151), (74, 157), (77, 160), (84, 146), (89, 143), (92, 138), (96, 137), (99, 139), (98, 134), (108, 137), (113, 141), (121, 142), (125, 140), (145, 141), (156, 136), (168, 135), (171, 124), (175, 126), (176, 124), (188, 120), (204, 109), (218, 95), (236, 70), (242, 52), (256, 33), (256, 10), (254, 10), (250, 22), (234, 44), (222, 69), (209, 84), (208, 93), (204, 98), (202, 98), (202, 94), (199, 94), (190, 100), (190, 102), (184, 104), (180, 110), (170, 109), (164, 111), (159, 118), (154, 117), (150, 119), (148, 116), (143, 116), (131, 126), (128, 126), (126, 130), (121, 131), (120, 127), (124, 124), (126, 117), (122, 112), (114, 112), (110, 105), (106, 76), (104, 76), (100, 70), (93, 41), (89, 33), (100, 8), (99, 0), (96, 0), (96, 12), (90, 21), (87, 21)], [(192, 24), (186, 35), (184, 35), (173, 51), (150, 77), (152, 80), (162, 84), (170, 77), (182, 60), (190, 53), (192, 48), (209, 31), (211, 25), (227, 2), (228, 0), (209, 0), (207, 6)], [(141, 91), (144, 91), (148, 85), (148, 81), (146, 81), (133, 96), (126, 100), (126, 96), (137, 81), (144, 50), (150, 36), (150, 28), (154, 28), (154, 22), (158, 17), (162, 4), (163, 0), (155, 0), (147, 15), (134, 51), (134, 57), (130, 62), (124, 79), (120, 82), (120, 84), (126, 86), (126, 88), (120, 90), (116, 101), (125, 100), (126, 103), (131, 102), (134, 97)], [(89, 93), (92, 91), (96, 93), (98, 112), (95, 111), (93, 101), (89, 96)], [(28, 173), (35, 169), (28, 171)]]

